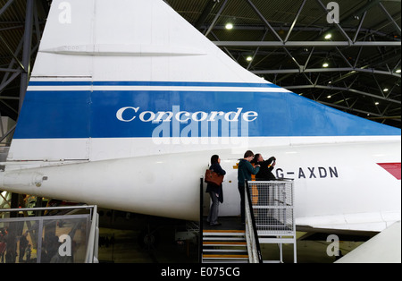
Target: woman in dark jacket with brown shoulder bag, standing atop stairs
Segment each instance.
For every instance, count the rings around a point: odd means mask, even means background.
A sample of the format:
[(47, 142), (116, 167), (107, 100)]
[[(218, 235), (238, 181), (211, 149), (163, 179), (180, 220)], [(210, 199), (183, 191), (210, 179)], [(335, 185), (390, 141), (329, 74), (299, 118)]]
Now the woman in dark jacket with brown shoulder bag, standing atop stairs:
[[(226, 175), (226, 172), (222, 169), (220, 164), (221, 159), (219, 156), (214, 155), (211, 158), (211, 166), (209, 169), (220, 175)], [(209, 193), (212, 201), (211, 209), (209, 210), (209, 215), (206, 220), (209, 222), (210, 226), (221, 226), (221, 224), (218, 222), (218, 213), (219, 202), (223, 203), (222, 184), (216, 185), (214, 183), (208, 183), (206, 185), (206, 192)]]

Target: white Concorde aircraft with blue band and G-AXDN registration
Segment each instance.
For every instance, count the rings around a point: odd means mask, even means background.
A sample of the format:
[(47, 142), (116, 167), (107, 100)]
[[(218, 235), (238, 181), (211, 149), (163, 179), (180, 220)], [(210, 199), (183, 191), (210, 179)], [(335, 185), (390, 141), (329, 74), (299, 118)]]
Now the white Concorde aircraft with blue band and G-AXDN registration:
[(295, 180), (297, 226), (379, 232), (400, 220), (400, 134), (247, 72), (163, 0), (54, 0), (0, 190), (197, 220), (218, 154), (237, 216), (251, 149)]

